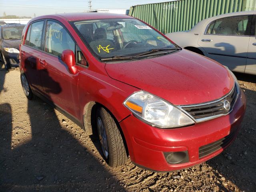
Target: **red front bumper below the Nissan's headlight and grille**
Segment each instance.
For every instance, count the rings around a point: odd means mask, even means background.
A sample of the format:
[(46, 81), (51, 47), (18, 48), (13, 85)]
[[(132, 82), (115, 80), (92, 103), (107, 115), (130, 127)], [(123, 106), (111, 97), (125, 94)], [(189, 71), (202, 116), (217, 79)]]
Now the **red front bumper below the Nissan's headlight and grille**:
[[(246, 109), (246, 98), (240, 92), (232, 112), (193, 126), (172, 129), (154, 128), (133, 115), (120, 122), (130, 158), (142, 168), (171, 172), (200, 164), (220, 154), (236, 138)], [(199, 158), (199, 148), (216, 142), (232, 133), (232, 138), (220, 149)], [(181, 164), (169, 164), (164, 152), (188, 151), (189, 160)]]

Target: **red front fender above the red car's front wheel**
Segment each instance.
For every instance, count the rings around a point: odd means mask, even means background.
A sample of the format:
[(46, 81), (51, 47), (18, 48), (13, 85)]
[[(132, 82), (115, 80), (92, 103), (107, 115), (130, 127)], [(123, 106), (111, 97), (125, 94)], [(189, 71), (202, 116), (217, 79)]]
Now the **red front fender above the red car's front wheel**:
[(124, 105), (124, 100), (138, 88), (110, 78), (107, 74), (99, 74), (90, 70), (80, 72), (78, 94), (80, 104), (80, 121), (86, 113), (84, 107), (90, 102), (105, 106), (118, 122), (131, 114)]

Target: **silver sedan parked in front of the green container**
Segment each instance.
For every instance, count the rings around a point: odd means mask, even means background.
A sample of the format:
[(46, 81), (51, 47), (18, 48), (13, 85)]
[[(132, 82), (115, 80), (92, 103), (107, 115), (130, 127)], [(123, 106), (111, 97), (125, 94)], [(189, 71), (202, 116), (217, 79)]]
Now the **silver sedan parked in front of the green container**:
[(256, 74), (256, 11), (223, 14), (190, 31), (169, 33), (182, 48), (207, 56), (232, 71)]

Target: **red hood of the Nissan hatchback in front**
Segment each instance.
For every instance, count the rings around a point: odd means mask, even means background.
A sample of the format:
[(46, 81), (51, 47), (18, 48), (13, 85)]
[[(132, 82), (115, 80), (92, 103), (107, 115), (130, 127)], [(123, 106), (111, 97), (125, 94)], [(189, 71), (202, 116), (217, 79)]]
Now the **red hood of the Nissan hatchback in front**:
[(175, 105), (216, 100), (234, 86), (234, 79), (224, 66), (187, 50), (132, 62), (108, 63), (105, 68), (111, 78)]

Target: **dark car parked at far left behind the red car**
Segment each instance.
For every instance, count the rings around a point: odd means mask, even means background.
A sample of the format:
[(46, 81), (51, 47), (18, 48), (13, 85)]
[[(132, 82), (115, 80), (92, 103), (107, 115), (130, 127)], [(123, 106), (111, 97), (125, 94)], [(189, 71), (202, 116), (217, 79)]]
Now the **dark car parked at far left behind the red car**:
[(22, 24), (0, 26), (0, 55), (6, 70), (19, 66), (19, 44), (24, 27)]

